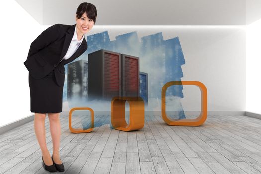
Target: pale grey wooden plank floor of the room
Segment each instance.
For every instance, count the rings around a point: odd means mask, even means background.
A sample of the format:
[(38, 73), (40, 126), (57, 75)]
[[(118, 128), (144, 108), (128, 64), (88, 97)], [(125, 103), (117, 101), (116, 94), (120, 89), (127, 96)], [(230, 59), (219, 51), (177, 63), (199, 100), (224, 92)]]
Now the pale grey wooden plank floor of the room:
[[(91, 133), (72, 134), (61, 116), (60, 156), (66, 174), (260, 174), (261, 120), (209, 116), (203, 126), (168, 126), (145, 116), (142, 130), (110, 129), (109, 118)], [(104, 119), (104, 121), (102, 121)], [(49, 120), (46, 143), (52, 154)], [(72, 124), (81, 126), (80, 119)], [(33, 121), (0, 135), (0, 174), (48, 174)], [(60, 173), (60, 172), (59, 172)]]

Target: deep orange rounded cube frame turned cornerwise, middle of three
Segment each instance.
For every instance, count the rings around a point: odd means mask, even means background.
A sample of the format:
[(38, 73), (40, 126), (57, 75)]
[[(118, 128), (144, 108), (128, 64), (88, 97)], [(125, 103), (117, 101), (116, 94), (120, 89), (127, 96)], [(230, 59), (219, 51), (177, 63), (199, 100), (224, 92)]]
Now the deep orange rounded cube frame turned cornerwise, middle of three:
[[(125, 120), (125, 103), (130, 105), (129, 125)], [(114, 129), (132, 131), (144, 127), (144, 102), (141, 97), (114, 97), (111, 100), (111, 124)]]

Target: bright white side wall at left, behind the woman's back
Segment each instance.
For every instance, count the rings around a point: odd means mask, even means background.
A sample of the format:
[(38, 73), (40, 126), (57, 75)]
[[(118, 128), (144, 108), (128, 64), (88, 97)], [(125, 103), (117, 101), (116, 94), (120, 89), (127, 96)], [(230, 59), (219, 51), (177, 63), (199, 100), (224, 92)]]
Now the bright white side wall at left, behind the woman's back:
[(32, 115), (28, 71), (23, 62), (31, 42), (46, 26), (31, 17), (15, 0), (0, 1), (0, 126)]

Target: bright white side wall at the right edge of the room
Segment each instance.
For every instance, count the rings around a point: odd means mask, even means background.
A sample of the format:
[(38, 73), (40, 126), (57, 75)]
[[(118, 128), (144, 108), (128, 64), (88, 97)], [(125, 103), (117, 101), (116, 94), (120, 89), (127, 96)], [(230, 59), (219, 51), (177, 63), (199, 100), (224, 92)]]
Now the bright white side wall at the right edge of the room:
[(246, 111), (261, 114), (261, 1), (246, 0)]

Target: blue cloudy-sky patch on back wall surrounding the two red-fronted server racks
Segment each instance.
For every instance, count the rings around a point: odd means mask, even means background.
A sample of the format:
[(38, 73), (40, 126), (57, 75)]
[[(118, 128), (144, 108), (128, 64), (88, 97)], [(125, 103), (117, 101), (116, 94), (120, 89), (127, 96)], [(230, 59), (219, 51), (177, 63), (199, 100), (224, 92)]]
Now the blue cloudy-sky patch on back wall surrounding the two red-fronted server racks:
[[(88, 101), (88, 96), (91, 95), (87, 93), (88, 54), (101, 49), (139, 58), (139, 91), (146, 103), (145, 111), (160, 110), (163, 85), (169, 81), (181, 81), (183, 77), (181, 66), (185, 64), (185, 59), (178, 37), (164, 40), (162, 33), (159, 32), (139, 38), (137, 32), (134, 31), (118, 35), (115, 40), (110, 40), (108, 32), (104, 31), (88, 36), (87, 43), (87, 51), (75, 62), (65, 66), (63, 100), (68, 101), (70, 108), (91, 107), (94, 111), (105, 108), (110, 111), (110, 101), (105, 104), (106, 106), (102, 100)], [(75, 67), (75, 74), (67, 76), (68, 72), (72, 72), (73, 67)], [(76, 67), (82, 67), (81, 72), (77, 72), (79, 68)], [(69, 84), (67, 84), (67, 78)], [(79, 82), (73, 84), (73, 81)], [(141, 93), (142, 90), (145, 90), (145, 94)], [(182, 90), (182, 85), (175, 85), (166, 91), (166, 108), (169, 105), (171, 110), (175, 111), (175, 114), (168, 115), (171, 118), (185, 119), (180, 101), (184, 97)]]

